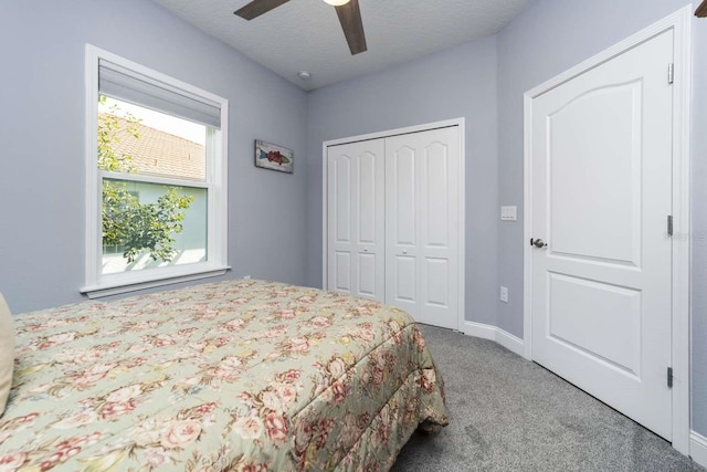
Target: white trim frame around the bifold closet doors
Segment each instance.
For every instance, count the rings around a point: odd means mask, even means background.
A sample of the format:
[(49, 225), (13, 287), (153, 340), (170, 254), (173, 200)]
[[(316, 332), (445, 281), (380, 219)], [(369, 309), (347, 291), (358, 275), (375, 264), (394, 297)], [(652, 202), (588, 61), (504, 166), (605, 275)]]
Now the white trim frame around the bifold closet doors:
[(328, 290), (327, 286), (327, 275), (328, 275), (328, 239), (327, 239), (327, 231), (328, 231), (328, 201), (327, 201), (327, 186), (328, 186), (328, 180), (327, 180), (327, 176), (328, 176), (328, 160), (327, 160), (327, 149), (329, 146), (337, 146), (337, 145), (341, 145), (341, 144), (348, 144), (348, 143), (356, 143), (356, 141), (362, 141), (362, 140), (370, 140), (370, 139), (380, 139), (380, 138), (387, 138), (387, 137), (391, 137), (391, 136), (398, 136), (398, 135), (408, 135), (408, 134), (412, 134), (412, 133), (421, 133), (421, 132), (428, 132), (431, 129), (437, 129), (437, 128), (449, 128), (452, 126), (456, 126), (458, 127), (458, 149), (460, 149), (460, 159), (458, 159), (458, 168), (457, 168), (457, 177), (460, 179), (458, 185), (460, 185), (460, 192), (458, 192), (458, 251), (457, 251), (457, 258), (458, 258), (458, 264), (457, 264), (457, 283), (458, 283), (458, 290), (457, 290), (457, 316), (456, 316), (456, 331), (460, 329), (460, 326), (464, 326), (464, 301), (465, 301), (465, 293), (466, 293), (466, 285), (464, 282), (464, 274), (465, 274), (465, 269), (466, 269), (466, 224), (465, 224), (465, 214), (466, 214), (466, 210), (465, 210), (465, 202), (466, 202), (466, 174), (465, 174), (465, 161), (466, 161), (466, 151), (464, 148), (464, 137), (466, 135), (466, 125), (465, 125), (465, 119), (464, 117), (460, 117), (460, 118), (452, 118), (452, 119), (445, 119), (442, 122), (433, 122), (433, 123), (425, 123), (422, 125), (415, 125), (415, 126), (407, 126), (404, 128), (395, 128), (395, 129), (387, 129), (383, 132), (377, 132), (377, 133), (369, 133), (369, 134), (365, 134), (365, 135), (357, 135), (357, 136), (349, 136), (346, 138), (339, 138), (339, 139), (330, 139), (330, 140), (326, 140), (321, 143), (321, 287), (324, 290)]

